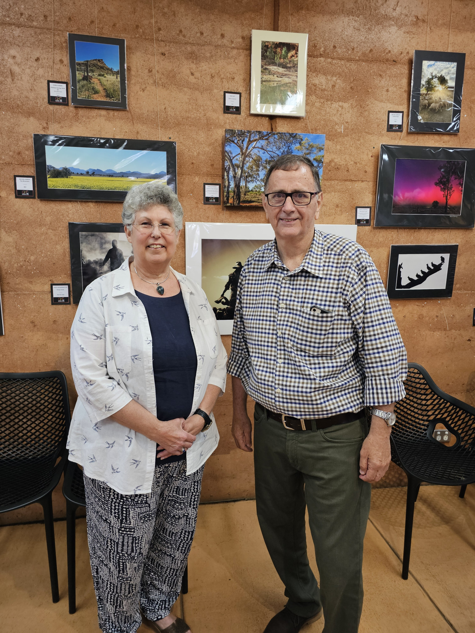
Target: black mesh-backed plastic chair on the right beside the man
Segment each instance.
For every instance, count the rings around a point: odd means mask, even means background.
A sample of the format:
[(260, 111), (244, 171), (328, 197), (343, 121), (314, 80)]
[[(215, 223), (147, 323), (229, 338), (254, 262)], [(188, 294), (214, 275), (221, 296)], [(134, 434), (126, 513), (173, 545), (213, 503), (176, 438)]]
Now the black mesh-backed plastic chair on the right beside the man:
[[(396, 403), (391, 432), (392, 461), (407, 475), (404, 580), (409, 575), (414, 504), (421, 483), (460, 486), (463, 498), (467, 484), (475, 482), (475, 408), (439, 389), (421, 365), (409, 363), (407, 367), (406, 396)], [(437, 423), (455, 436), (453, 446), (433, 438)]]

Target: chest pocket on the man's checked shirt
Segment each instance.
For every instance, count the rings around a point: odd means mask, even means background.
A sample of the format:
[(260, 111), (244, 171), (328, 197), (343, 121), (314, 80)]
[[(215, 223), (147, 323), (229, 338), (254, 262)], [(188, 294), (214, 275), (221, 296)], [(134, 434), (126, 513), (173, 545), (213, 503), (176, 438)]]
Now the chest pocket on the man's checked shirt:
[(299, 356), (333, 356), (338, 335), (331, 332), (334, 312), (312, 312), (306, 308), (289, 319), (288, 339)]

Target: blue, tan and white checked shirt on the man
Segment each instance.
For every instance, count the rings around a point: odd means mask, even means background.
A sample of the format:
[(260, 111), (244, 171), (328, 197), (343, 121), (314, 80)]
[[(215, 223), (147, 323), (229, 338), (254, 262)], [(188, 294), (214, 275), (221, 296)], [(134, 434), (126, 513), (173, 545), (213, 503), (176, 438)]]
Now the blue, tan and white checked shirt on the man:
[(275, 241), (258, 248), (239, 278), (227, 372), (258, 403), (297, 418), (402, 399), (406, 351), (369, 254), (316, 230), (289, 272)]

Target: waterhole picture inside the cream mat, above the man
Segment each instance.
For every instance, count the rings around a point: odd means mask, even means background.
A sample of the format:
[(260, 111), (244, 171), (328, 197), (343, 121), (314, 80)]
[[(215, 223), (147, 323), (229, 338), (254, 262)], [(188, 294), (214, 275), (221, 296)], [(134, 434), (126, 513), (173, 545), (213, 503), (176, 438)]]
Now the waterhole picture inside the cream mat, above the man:
[(286, 105), (297, 94), (298, 44), (261, 42), (260, 103)]

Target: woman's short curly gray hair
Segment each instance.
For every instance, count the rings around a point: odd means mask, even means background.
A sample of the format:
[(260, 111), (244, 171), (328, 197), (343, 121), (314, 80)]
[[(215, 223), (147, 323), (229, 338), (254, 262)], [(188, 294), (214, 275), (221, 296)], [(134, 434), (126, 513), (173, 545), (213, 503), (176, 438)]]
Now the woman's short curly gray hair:
[(168, 185), (152, 180), (136, 185), (130, 189), (124, 200), (122, 209), (122, 223), (129, 227), (135, 221), (137, 211), (143, 211), (156, 204), (163, 204), (173, 215), (176, 230), (183, 228), (183, 209), (179, 203), (177, 194)]

